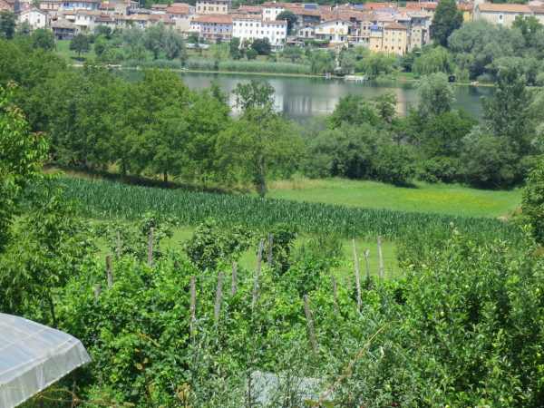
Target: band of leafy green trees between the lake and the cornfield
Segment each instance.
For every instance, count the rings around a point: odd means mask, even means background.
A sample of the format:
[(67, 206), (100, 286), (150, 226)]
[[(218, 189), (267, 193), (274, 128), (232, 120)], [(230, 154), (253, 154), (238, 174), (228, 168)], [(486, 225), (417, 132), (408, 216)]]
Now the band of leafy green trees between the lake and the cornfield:
[(0, 55), (0, 83), (20, 84), (33, 130), (48, 134), (51, 160), (63, 166), (253, 185), (264, 195), (267, 180), (294, 172), (509, 187), (542, 152), (542, 93), (526, 88), (520, 68), (500, 70), (481, 123), (453, 109), (452, 85), (433, 73), (406, 117), (391, 95), (350, 95), (325, 121), (303, 127), (275, 112), (267, 83), (239, 84), (233, 117), (219, 87), (194, 92), (169, 71), (131, 82), (92, 65), (68, 68), (31, 42), (0, 43)]

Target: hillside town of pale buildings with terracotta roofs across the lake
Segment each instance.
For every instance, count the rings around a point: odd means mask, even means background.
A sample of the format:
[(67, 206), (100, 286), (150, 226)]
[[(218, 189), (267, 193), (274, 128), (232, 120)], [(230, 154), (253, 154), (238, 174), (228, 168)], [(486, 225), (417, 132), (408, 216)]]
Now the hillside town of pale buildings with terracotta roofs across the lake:
[[(230, 0), (197, 0), (155, 4), (143, 8), (132, 0), (0, 0), (0, 11), (17, 15), (19, 24), (51, 28), (59, 40), (92, 32), (98, 25), (114, 28), (146, 28), (165, 24), (184, 36), (219, 43), (238, 38), (240, 43), (267, 39), (272, 49), (286, 44), (314, 42), (333, 48), (364, 46), (372, 52), (404, 55), (430, 43), (430, 28), (437, 2), (364, 3), (361, 5), (317, 5), (312, 3), (265, 2), (240, 5)], [(544, 2), (528, 5), (457, 2), (463, 21), (485, 20), (510, 26), (516, 16), (534, 16), (544, 23)], [(296, 23), (277, 19), (291, 12)]]

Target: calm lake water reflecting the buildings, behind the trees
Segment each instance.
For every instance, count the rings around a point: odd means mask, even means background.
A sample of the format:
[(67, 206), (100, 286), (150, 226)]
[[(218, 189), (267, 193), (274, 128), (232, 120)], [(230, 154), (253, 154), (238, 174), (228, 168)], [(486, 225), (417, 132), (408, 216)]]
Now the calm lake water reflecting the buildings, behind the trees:
[[(139, 75), (131, 72), (129, 76), (135, 78)], [(267, 81), (276, 90), (277, 111), (297, 121), (333, 112), (339, 99), (350, 93), (363, 95), (370, 101), (385, 92), (393, 92), (398, 101), (397, 111), (401, 114), (408, 112), (408, 108), (418, 102), (414, 83), (354, 83), (343, 79), (234, 73), (181, 73), (181, 77), (191, 89), (207, 88), (216, 81), (230, 95), (231, 105), (235, 102), (232, 91), (238, 83), (248, 83), (251, 79)], [(455, 86), (454, 90), (456, 106), (471, 112), (476, 118), (481, 117), (481, 98), (493, 92), (492, 88), (473, 86)]]

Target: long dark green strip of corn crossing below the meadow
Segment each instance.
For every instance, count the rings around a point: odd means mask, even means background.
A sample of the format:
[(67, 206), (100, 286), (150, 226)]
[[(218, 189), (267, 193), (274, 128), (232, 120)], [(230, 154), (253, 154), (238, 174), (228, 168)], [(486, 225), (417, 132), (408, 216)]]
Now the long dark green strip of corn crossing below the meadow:
[(474, 238), (517, 240), (517, 228), (498, 219), (464, 218), (389, 209), (355, 209), (338, 205), (259, 199), (248, 195), (192, 192), (131, 186), (106, 180), (62, 179), (69, 199), (80, 203), (81, 215), (97, 219), (141, 219), (149, 211), (170, 216), (182, 225), (217, 219), (225, 226), (267, 230), (295, 225), (300, 232), (335, 233), (343, 237), (407, 238), (418, 234), (442, 237), (452, 227)]

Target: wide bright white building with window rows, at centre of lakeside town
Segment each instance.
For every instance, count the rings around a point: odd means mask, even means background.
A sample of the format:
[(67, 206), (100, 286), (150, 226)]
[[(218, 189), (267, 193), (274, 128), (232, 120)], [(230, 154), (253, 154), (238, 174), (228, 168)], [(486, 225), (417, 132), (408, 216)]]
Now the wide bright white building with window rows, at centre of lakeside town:
[(275, 47), (282, 47), (287, 40), (287, 21), (263, 20), (259, 15), (233, 15), (232, 36), (251, 42), (256, 39), (267, 38)]

